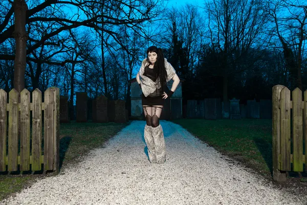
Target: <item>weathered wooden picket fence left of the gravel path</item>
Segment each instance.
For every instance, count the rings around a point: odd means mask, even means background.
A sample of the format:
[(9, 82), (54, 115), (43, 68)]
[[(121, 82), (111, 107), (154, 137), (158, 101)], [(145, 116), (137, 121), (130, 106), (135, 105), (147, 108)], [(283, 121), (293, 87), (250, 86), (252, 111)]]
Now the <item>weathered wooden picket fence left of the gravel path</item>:
[[(59, 172), (59, 89), (48, 88), (44, 96), (44, 103), (42, 103), (41, 91), (35, 89), (32, 92), (32, 103), (30, 103), (30, 92), (24, 89), (20, 93), (20, 103), (18, 103), (18, 92), (12, 89), (9, 92), (9, 103), (7, 103), (7, 93), (0, 89), (0, 172), (6, 171), (6, 165), (9, 172), (18, 171), (18, 165), (20, 165), (20, 171), (29, 171), (30, 164), (32, 171), (39, 171), (42, 163), (43, 170)], [(30, 155), (31, 111), (32, 150)], [(41, 149), (42, 111), (44, 111), (43, 154)], [(18, 148), (18, 141), (20, 148)]]

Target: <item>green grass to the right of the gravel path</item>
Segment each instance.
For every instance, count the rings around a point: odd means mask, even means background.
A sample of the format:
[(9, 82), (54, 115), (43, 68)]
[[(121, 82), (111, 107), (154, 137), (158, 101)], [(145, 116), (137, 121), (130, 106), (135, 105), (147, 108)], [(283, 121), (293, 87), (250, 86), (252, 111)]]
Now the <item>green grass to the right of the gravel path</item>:
[(272, 173), (271, 119), (176, 119), (176, 124), (262, 175)]

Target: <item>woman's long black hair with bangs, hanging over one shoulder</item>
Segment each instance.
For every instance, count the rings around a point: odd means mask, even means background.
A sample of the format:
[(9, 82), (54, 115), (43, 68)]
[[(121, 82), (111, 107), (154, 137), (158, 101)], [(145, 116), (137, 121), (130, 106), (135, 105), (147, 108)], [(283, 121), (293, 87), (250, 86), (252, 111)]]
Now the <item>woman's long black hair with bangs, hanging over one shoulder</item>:
[[(166, 73), (166, 69), (165, 69), (165, 66), (164, 66), (164, 55), (163, 55), (162, 49), (157, 48), (156, 46), (150, 46), (147, 49), (147, 52), (146, 52), (148, 62), (149, 62), (149, 59), (148, 59), (148, 53), (149, 52), (150, 53), (152, 53), (152, 52), (157, 53), (157, 60), (156, 60), (155, 65), (153, 65), (153, 70), (156, 73), (156, 77), (157, 77), (156, 82), (158, 81), (160, 83), (161, 88), (162, 88), (162, 92), (164, 92), (165, 88), (166, 88), (167, 73)], [(159, 80), (158, 80), (158, 78), (159, 78)], [(157, 86), (158, 85), (156, 84), (156, 87)]]

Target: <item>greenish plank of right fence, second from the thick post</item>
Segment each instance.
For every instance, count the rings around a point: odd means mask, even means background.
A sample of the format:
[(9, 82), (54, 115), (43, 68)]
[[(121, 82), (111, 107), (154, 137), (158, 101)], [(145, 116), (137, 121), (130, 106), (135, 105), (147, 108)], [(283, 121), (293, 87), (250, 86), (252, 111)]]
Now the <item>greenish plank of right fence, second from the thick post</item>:
[(293, 171), (303, 171), (303, 113), (302, 91), (296, 88), (292, 91), (292, 130), (293, 130)]

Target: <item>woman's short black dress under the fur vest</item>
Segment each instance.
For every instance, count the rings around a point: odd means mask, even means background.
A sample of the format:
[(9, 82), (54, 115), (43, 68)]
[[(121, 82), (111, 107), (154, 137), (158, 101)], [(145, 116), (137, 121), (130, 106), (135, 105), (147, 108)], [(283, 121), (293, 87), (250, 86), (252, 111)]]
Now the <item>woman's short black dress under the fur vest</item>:
[[(149, 68), (147, 65), (144, 69), (145, 76), (149, 77), (152, 81), (156, 81), (157, 77), (153, 68)], [(142, 92), (142, 105), (143, 106), (163, 106), (164, 99), (162, 98), (162, 88), (157, 89), (155, 92), (150, 93), (147, 97), (145, 97), (144, 93)]]

